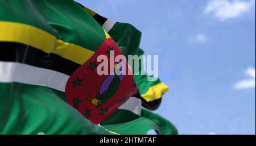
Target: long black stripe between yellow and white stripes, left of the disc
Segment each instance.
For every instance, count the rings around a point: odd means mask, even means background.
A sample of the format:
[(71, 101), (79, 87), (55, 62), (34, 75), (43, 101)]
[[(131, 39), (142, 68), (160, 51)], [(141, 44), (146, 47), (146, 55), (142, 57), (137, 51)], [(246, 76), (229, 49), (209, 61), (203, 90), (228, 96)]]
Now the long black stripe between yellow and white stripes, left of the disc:
[(45, 53), (34, 47), (19, 43), (0, 42), (0, 61), (20, 62), (39, 68), (51, 69), (71, 76), (79, 64), (53, 53)]

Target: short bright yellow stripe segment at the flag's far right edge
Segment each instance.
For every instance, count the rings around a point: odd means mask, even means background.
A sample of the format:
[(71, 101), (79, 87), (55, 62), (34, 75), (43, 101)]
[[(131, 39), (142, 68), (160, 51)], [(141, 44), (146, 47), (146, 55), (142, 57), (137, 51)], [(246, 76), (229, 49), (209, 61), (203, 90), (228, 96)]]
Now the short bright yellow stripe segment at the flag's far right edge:
[(169, 87), (163, 83), (151, 86), (146, 94), (142, 94), (141, 97), (144, 98), (147, 102), (160, 99), (164, 93), (169, 90)]

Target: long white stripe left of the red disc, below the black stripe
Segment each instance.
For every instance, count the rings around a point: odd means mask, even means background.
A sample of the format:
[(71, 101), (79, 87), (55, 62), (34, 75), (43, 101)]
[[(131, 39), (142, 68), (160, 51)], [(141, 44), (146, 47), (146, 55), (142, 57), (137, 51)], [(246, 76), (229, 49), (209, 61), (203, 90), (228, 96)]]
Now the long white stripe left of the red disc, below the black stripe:
[(68, 78), (69, 76), (66, 74), (54, 70), (38, 68), (18, 62), (0, 61), (0, 82), (20, 82), (65, 91)]

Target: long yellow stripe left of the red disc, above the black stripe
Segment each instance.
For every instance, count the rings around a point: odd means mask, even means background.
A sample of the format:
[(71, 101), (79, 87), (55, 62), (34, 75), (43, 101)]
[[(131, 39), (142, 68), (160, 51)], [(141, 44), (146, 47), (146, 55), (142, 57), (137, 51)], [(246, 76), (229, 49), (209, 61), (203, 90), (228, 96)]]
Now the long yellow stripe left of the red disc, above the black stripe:
[(65, 59), (84, 64), (93, 51), (67, 43), (39, 28), (22, 23), (0, 22), (0, 41), (30, 45), (46, 53), (55, 53)]

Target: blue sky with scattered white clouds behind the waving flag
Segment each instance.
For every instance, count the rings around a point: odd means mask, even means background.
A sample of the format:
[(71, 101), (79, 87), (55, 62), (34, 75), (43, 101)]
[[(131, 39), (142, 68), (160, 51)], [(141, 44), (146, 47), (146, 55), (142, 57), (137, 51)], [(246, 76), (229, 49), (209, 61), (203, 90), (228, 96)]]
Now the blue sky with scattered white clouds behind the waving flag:
[(255, 134), (255, 0), (77, 0), (137, 27), (180, 134)]

